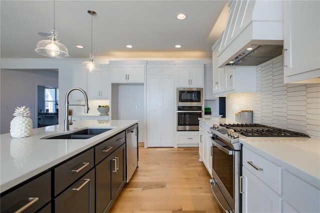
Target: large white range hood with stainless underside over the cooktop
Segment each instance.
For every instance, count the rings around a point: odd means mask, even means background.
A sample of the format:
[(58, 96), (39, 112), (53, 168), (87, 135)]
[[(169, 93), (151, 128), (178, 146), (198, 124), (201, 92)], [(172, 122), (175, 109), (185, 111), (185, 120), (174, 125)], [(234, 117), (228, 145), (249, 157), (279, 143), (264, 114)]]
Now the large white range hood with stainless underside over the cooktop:
[(282, 1), (232, 0), (229, 8), (220, 43), (213, 44), (218, 67), (256, 66), (282, 54)]

